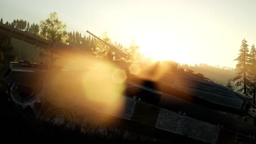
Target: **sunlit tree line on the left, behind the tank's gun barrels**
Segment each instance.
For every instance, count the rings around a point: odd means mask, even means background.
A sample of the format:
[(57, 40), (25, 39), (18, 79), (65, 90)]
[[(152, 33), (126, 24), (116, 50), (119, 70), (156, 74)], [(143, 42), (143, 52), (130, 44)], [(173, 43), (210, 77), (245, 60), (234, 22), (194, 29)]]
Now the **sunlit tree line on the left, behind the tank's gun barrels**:
[[(3, 23), (3, 19), (1, 18), (1, 23)], [(80, 50), (91, 51), (98, 58), (105, 58), (109, 53), (110, 47), (102, 43), (102, 41), (97, 40), (94, 37), (86, 36), (78, 32), (68, 32), (66, 31), (66, 24), (59, 20), (57, 17), (57, 13), (50, 13), (47, 19), (41, 20), (39, 25), (33, 23), (30, 25), (30, 22), (26, 20), (14, 20), (13, 22), (5, 22), (5, 25), (12, 26), (14, 28), (20, 29), (21, 31), (26, 31), (31, 34), (35, 34), (39, 37), (50, 41), (60, 41), (61, 43), (69, 44), (74, 47), (78, 47)], [(118, 47), (118, 49), (124, 51), (125, 53), (129, 53), (131, 57), (129, 59), (125, 59), (126, 62), (153, 62), (151, 57), (146, 57), (142, 53), (139, 52), (139, 46), (135, 44), (133, 40), (130, 46), (123, 46), (116, 41), (112, 41), (107, 32), (103, 32), (101, 35), (101, 39), (106, 41), (107, 43)]]

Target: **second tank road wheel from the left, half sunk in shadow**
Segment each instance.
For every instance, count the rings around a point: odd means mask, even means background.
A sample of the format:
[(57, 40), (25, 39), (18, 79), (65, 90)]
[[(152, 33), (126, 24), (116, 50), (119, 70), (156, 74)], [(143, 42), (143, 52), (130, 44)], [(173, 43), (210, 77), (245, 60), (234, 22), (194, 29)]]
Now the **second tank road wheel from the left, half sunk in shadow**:
[(72, 130), (74, 130), (77, 125), (74, 114), (70, 110), (63, 107), (52, 107), (44, 112), (41, 119), (44, 122), (49, 122), (51, 124)]

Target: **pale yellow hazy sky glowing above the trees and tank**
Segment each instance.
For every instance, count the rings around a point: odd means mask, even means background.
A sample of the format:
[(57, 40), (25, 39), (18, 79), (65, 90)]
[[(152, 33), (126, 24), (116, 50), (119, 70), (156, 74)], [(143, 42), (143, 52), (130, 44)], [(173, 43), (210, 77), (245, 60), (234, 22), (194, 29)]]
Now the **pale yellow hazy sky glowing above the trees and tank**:
[(156, 59), (235, 67), (241, 40), (256, 44), (256, 1), (0, 0), (5, 21), (39, 23), (56, 11), (68, 31), (86, 30)]

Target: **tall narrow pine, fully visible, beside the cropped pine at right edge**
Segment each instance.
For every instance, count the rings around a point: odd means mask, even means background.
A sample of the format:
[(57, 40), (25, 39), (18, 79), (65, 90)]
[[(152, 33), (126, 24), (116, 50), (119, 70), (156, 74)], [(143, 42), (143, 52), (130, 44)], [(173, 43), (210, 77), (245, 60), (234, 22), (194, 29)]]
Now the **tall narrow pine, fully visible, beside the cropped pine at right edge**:
[(237, 61), (236, 76), (232, 79), (232, 81), (235, 82), (235, 88), (237, 89), (237, 92), (241, 93), (243, 91), (243, 94), (247, 95), (249, 83), (247, 78), (247, 74), (249, 72), (249, 49), (247, 41), (245, 39), (242, 40), (242, 45), (239, 52), (240, 53), (238, 54), (238, 57), (234, 60)]

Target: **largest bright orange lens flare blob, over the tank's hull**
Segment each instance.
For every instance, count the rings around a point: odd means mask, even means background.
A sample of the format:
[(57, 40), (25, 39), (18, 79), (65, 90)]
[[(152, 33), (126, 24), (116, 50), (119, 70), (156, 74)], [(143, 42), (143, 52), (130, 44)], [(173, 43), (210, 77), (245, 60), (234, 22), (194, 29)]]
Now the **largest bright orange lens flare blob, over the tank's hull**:
[(85, 71), (83, 92), (86, 101), (104, 111), (119, 109), (125, 90), (124, 70), (108, 62), (95, 62)]

